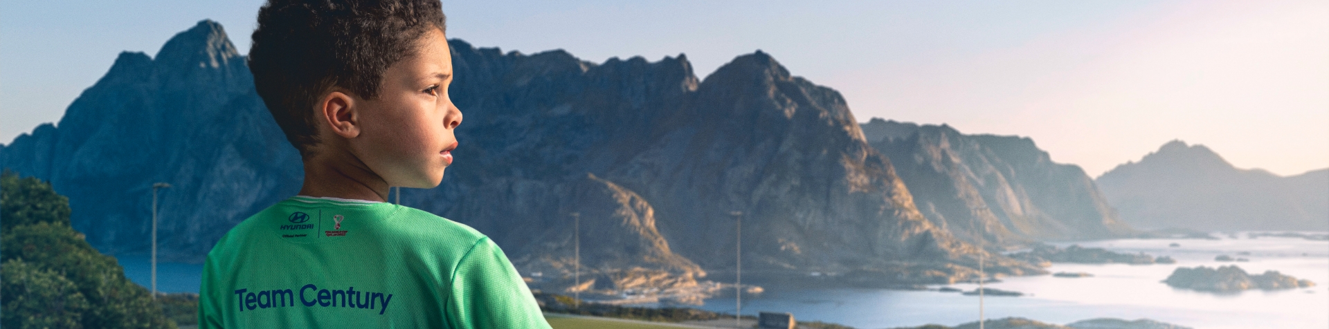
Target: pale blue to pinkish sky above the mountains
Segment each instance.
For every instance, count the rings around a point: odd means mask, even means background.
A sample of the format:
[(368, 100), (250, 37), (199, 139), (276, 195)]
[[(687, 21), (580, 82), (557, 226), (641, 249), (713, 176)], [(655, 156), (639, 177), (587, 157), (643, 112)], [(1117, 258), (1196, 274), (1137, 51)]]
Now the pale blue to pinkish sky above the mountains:
[[(0, 143), (121, 50), (198, 20), (241, 52), (262, 1), (0, 1)], [(1280, 175), (1329, 167), (1329, 1), (444, 1), (449, 37), (582, 60), (762, 49), (872, 117), (1033, 138), (1098, 176), (1172, 139)]]

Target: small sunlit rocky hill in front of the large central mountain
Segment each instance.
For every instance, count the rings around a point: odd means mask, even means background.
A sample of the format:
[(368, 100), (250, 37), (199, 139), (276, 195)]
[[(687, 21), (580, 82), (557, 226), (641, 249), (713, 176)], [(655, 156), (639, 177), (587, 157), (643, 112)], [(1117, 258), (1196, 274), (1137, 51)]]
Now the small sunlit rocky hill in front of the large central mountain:
[[(696, 280), (706, 276), (695, 263), (670, 249), (655, 227), (655, 210), (637, 192), (591, 174), (560, 190), (565, 204), (557, 214), (563, 216), (554, 215), (538, 228), (517, 228), (533, 230), (526, 232), (532, 243), (512, 252), (517, 268), (528, 275), (541, 273), (533, 287), (688, 291), (696, 289)], [(575, 287), (577, 236), (581, 237), (579, 276), (585, 287), (567, 288)]]

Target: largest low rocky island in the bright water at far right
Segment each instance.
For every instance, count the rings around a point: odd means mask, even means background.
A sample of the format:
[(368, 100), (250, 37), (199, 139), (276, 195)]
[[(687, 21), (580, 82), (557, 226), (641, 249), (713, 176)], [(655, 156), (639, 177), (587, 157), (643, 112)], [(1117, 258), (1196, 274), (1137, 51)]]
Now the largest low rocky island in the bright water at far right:
[(1278, 273), (1278, 271), (1265, 271), (1263, 275), (1252, 276), (1236, 265), (1176, 268), (1163, 283), (1174, 288), (1219, 293), (1235, 293), (1247, 289), (1296, 289), (1316, 285), (1310, 280), (1297, 280), (1296, 277)]

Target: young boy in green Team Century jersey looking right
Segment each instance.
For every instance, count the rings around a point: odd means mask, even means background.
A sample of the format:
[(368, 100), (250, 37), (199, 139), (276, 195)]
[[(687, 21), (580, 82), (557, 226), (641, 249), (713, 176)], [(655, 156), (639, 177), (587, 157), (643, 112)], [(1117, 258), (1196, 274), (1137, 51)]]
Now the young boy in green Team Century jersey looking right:
[(549, 328), (492, 240), (384, 202), (452, 163), (444, 32), (439, 0), (259, 9), (250, 70), (304, 186), (207, 253), (199, 328)]

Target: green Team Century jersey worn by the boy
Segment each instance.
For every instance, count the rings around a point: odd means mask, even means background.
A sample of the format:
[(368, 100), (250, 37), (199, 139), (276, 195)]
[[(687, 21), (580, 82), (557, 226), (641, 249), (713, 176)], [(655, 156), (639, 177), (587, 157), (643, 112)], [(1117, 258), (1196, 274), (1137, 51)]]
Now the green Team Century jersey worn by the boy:
[(391, 203), (295, 196), (222, 236), (199, 328), (549, 328), (478, 231)]

